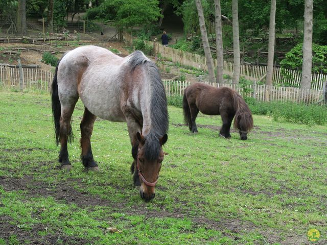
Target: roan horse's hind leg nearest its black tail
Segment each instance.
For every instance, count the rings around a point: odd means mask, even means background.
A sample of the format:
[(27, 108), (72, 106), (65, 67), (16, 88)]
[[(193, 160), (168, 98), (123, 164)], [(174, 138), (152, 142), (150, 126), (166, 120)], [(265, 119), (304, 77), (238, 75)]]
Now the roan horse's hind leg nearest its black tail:
[(59, 162), (61, 163), (61, 169), (70, 169), (72, 167), (69, 161), (67, 141), (73, 138), (71, 119), (76, 105), (76, 101), (73, 101), (69, 105), (61, 105), (61, 117), (60, 117), (60, 153)]

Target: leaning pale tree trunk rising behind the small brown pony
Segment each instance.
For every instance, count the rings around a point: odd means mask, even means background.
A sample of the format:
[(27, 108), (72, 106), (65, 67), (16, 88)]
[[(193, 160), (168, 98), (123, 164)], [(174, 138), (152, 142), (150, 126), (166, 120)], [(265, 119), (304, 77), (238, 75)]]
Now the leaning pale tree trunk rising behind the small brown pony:
[(195, 0), (195, 4), (196, 4), (196, 8), (198, 10), (203, 50), (204, 50), (206, 65), (208, 67), (208, 73), (209, 73), (209, 82), (213, 83), (213, 82), (215, 82), (214, 62), (213, 62), (213, 57), (211, 56), (208, 36), (207, 36), (207, 33), (206, 33), (205, 21), (204, 21), (204, 15), (203, 15), (201, 0)]

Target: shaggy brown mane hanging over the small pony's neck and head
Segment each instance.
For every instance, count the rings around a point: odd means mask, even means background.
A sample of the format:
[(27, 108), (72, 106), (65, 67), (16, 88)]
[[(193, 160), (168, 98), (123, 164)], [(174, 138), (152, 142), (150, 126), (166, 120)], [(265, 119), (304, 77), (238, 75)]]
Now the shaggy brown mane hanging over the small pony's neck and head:
[(236, 110), (233, 126), (235, 129), (242, 128), (248, 132), (253, 128), (253, 117), (250, 108), (238, 93), (234, 93), (233, 99)]

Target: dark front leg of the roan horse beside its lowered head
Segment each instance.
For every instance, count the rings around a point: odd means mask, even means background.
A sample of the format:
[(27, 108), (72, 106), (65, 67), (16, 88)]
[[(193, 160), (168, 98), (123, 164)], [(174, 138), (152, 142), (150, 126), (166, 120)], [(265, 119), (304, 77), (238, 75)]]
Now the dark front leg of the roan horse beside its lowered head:
[(138, 140), (136, 138), (137, 132), (142, 132), (142, 126), (139, 124), (139, 122), (133, 117), (126, 115), (126, 121), (127, 121), (127, 127), (128, 127), (128, 133), (129, 138), (132, 145), (132, 157), (133, 162), (131, 165), (131, 172), (133, 174), (133, 183), (134, 186), (140, 186), (141, 182), (139, 181), (137, 169), (136, 169), (136, 157), (137, 157), (137, 151), (138, 151)]

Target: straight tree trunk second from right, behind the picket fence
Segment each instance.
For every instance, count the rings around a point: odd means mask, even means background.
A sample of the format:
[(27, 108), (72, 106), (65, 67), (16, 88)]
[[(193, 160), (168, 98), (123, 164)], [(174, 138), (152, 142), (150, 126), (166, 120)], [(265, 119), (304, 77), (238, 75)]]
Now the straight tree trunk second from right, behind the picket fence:
[(274, 70), (274, 48), (275, 48), (275, 16), (276, 16), (276, 0), (271, 0), (270, 5), (270, 21), (269, 21), (269, 41), (268, 41), (268, 62), (266, 85), (272, 85), (272, 75)]

